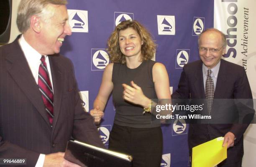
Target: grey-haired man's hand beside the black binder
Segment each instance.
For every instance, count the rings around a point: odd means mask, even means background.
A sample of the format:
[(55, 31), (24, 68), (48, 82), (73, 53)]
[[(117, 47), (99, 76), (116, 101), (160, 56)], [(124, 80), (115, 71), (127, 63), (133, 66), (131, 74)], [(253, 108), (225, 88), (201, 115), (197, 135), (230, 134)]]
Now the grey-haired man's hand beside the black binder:
[(64, 159), (64, 152), (45, 155), (43, 167), (81, 167)]

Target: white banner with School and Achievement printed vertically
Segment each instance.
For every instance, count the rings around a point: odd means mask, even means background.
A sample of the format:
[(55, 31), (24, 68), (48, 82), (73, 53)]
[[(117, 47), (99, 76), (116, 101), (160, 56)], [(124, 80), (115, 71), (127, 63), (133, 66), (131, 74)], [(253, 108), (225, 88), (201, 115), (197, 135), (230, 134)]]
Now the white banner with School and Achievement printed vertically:
[[(256, 99), (256, 1), (215, 0), (214, 27), (227, 37), (225, 60), (244, 67)], [(243, 167), (256, 164), (256, 125), (244, 135)]]

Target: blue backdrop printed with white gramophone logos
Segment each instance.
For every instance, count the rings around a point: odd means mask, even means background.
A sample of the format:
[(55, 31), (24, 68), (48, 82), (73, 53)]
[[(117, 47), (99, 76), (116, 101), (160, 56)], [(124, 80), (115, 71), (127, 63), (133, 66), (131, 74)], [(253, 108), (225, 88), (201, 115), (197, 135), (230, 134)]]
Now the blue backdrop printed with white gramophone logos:
[[(176, 90), (182, 67), (199, 59), (197, 37), (213, 27), (214, 0), (69, 0), (69, 25), (61, 54), (69, 57), (85, 109), (91, 110), (102, 74), (109, 63), (105, 50), (110, 33), (118, 22), (138, 20), (151, 32), (158, 45), (155, 60), (166, 66), (170, 90)], [(115, 108), (112, 96), (99, 125), (102, 141), (108, 145)], [(161, 167), (190, 166), (187, 148), (188, 125), (174, 120), (162, 125), (164, 151)]]

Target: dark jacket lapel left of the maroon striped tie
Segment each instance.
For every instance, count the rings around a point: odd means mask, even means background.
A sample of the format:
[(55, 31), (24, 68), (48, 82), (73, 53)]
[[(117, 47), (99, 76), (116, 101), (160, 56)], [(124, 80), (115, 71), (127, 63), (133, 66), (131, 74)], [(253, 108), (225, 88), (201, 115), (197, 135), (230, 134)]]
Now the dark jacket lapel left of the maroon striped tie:
[(7, 70), (13, 77), (13, 80), (17, 82), (20, 89), (36, 107), (46, 123), (50, 126), (41, 93), (38, 90), (38, 85), (28, 66), (25, 55), (18, 44), (18, 37), (12, 45), (13, 50), (6, 55)]

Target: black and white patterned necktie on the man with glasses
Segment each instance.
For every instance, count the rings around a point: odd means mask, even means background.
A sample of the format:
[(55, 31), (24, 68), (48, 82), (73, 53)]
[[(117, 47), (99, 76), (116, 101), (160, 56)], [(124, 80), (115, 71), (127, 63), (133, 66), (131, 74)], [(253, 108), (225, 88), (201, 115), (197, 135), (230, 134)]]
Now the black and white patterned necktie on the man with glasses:
[(214, 97), (214, 83), (211, 77), (212, 70), (207, 70), (207, 79), (205, 83), (205, 97), (207, 102), (208, 114), (210, 115), (212, 110), (212, 100)]

